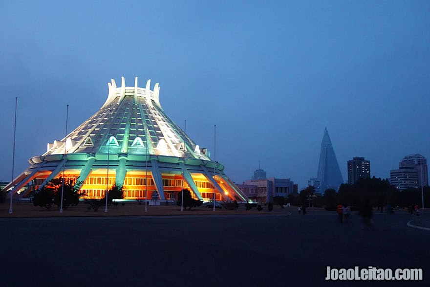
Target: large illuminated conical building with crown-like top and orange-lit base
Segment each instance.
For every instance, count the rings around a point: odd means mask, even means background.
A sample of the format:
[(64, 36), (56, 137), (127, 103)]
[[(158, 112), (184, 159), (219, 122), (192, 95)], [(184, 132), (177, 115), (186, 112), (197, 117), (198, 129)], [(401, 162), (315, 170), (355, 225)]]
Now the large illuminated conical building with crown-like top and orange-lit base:
[[(6, 186), (16, 192), (31, 182), (40, 190), (51, 179), (73, 178), (84, 198), (100, 199), (112, 185), (123, 187), (125, 199), (175, 199), (182, 187), (195, 199), (246, 201), (223, 170), (167, 116), (159, 101), (160, 87), (117, 88), (108, 83), (108, 99), (94, 115), (62, 140), (47, 144), (43, 155)], [(215, 176), (214, 176), (215, 173)]]

